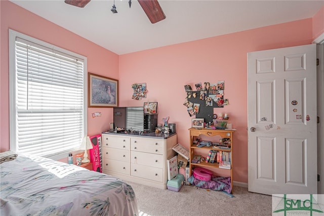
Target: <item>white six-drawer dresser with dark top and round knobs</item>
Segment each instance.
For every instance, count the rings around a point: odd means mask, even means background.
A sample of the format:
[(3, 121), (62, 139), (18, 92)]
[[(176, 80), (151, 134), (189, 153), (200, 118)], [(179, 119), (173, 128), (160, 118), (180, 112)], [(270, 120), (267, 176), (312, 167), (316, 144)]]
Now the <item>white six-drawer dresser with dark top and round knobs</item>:
[(167, 159), (176, 155), (177, 134), (102, 133), (103, 173), (167, 189)]

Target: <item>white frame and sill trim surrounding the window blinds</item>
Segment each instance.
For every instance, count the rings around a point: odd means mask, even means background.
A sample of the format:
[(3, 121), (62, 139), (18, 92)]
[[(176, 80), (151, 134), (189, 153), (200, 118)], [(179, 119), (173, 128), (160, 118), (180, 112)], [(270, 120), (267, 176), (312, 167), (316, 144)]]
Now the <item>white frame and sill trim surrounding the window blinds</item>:
[[(79, 55), (77, 53), (71, 52), (69, 50), (57, 47), (55, 45), (49, 44), (47, 42), (44, 42), (39, 39), (35, 39), (33, 37), (30, 37), (26, 34), (20, 33), (18, 31), (9, 29), (9, 120), (10, 120), (10, 149), (15, 151), (16, 150), (16, 37), (24, 39), (26, 41), (35, 43), (40, 46), (44, 46), (47, 48), (50, 48), (52, 50), (64, 53), (66, 55), (74, 56), (78, 59), (82, 59), (84, 62), (83, 67), (83, 77), (84, 77), (84, 94), (83, 94), (83, 100), (84, 100), (84, 106), (83, 106), (83, 119), (84, 119), (84, 131), (82, 132), (82, 137), (87, 134), (88, 131), (88, 115), (87, 115), (87, 104), (88, 104), (88, 73), (87, 73), (87, 57), (83, 55)], [(80, 137), (80, 140), (82, 139)], [(78, 151), (78, 148), (71, 149), (69, 152)], [(67, 157), (68, 152), (60, 152), (56, 155), (49, 156), (48, 158), (59, 160), (62, 158)]]

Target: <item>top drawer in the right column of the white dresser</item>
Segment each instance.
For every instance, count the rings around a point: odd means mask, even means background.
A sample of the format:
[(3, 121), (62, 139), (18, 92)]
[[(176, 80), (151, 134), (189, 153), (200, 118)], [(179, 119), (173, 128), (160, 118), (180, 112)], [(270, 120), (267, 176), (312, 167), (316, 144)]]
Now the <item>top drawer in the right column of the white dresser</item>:
[(137, 152), (147, 152), (153, 154), (164, 154), (164, 141), (157, 139), (141, 139), (132, 138), (131, 139), (131, 150)]

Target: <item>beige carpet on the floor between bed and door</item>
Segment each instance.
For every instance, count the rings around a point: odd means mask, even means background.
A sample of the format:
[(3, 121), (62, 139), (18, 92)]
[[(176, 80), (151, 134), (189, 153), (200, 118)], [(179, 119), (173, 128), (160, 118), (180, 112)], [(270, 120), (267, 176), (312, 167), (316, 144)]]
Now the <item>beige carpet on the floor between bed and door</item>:
[(271, 215), (272, 197), (234, 186), (234, 197), (220, 191), (182, 186), (179, 192), (161, 190), (133, 182), (141, 216), (180, 215)]

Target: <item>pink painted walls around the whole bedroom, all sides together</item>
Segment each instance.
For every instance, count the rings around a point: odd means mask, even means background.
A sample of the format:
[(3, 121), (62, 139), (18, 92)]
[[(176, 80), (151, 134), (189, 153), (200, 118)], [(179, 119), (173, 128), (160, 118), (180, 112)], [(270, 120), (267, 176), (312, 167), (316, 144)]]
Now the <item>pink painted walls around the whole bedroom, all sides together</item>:
[[(310, 44), (315, 35), (323, 32), (318, 21), (322, 15), (317, 13), (314, 19), (118, 56), (8, 1), (0, 1), (0, 10), (0, 152), (9, 149), (8, 28), (12, 28), (87, 56), (88, 71), (119, 80), (120, 106), (141, 106), (144, 101), (157, 101), (158, 122), (170, 116), (169, 123), (177, 124), (178, 142), (187, 148), (191, 118), (183, 105), (186, 97), (183, 86), (224, 80), (229, 105), (215, 108), (214, 112), (228, 113), (237, 129), (234, 181), (238, 182), (248, 182), (247, 52)], [(314, 32), (312, 25), (316, 23), (319, 28)], [(131, 99), (133, 83), (147, 84), (146, 99)], [(94, 112), (101, 112), (102, 117), (92, 118)], [(111, 121), (112, 109), (88, 108), (89, 135), (107, 130)]]

